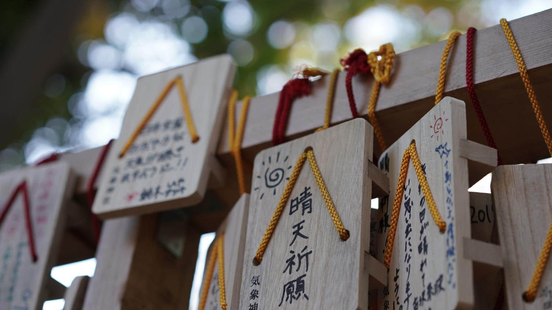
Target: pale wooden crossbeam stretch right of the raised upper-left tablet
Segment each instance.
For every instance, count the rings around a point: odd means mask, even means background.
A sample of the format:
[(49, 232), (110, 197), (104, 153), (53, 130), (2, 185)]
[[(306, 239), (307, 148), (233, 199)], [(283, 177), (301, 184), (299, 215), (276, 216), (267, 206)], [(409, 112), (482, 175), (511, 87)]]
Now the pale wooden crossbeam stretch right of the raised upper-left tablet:
[[(552, 97), (549, 87), (552, 70), (552, 10), (509, 21), (529, 76), (539, 98)], [(465, 33), (465, 30), (462, 31)], [(396, 141), (432, 108), (439, 75), (439, 59), (446, 40), (401, 52), (395, 57), (391, 81), (382, 85), (376, 104), (376, 117), (388, 145)], [(466, 35), (455, 42), (447, 64), (445, 94), (466, 102), (469, 140), (487, 145), (477, 115), (466, 90)], [(346, 56), (346, 55), (340, 55)], [(339, 66), (338, 63), (335, 64)], [(351, 119), (345, 88), (346, 73), (339, 73), (333, 105), (332, 124)], [(313, 84), (310, 95), (298, 98), (291, 107), (286, 136), (299, 137), (322, 126), (329, 76)], [(487, 121), (505, 163), (527, 163), (549, 156), (527, 99), (508, 41), (495, 25), (479, 29), (474, 39), (474, 82)], [(371, 74), (353, 78), (355, 101), (360, 115), (366, 115), (373, 84)], [(250, 115), (243, 133), (243, 153), (247, 161), (271, 145), (272, 124), (279, 93), (252, 98)], [(543, 99), (541, 99), (543, 100)], [(239, 110), (241, 102), (236, 104)], [(543, 105), (543, 114), (552, 105)], [(239, 115), (236, 115), (236, 118)], [(522, 120), (522, 121), (520, 121)], [(270, 124), (271, 126), (267, 126)], [(512, 131), (512, 124), (516, 130)], [(374, 153), (380, 154), (379, 146)], [(232, 161), (227, 129), (222, 133), (217, 154), (226, 164)], [(237, 197), (236, 197), (237, 199)]]

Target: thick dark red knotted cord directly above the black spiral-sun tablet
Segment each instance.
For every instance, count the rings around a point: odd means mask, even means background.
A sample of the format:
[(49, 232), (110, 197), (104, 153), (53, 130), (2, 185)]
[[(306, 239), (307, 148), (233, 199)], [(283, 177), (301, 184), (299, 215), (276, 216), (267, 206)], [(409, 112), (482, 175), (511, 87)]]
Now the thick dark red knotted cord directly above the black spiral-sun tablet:
[(311, 84), (309, 78), (294, 78), (285, 83), (278, 99), (278, 108), (274, 116), (272, 127), (272, 144), (279, 145), (285, 142), (285, 129), (288, 125), (291, 103), (295, 98), (310, 94)]

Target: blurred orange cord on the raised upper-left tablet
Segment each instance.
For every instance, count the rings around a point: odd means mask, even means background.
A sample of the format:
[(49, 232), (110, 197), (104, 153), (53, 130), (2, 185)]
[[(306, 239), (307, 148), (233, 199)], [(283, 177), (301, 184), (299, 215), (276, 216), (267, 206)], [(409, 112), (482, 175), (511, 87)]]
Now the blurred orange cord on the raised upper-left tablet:
[(192, 143), (198, 142), (199, 137), (198, 133), (195, 131), (195, 125), (194, 121), (192, 119), (192, 111), (190, 111), (190, 107), (188, 105), (188, 98), (186, 97), (186, 92), (184, 90), (184, 82), (182, 82), (182, 77), (178, 76), (171, 80), (167, 84), (167, 86), (163, 89), (163, 92), (161, 92), (161, 95), (155, 100), (151, 108), (147, 111), (146, 115), (144, 116), (144, 119), (140, 122), (140, 124), (136, 127), (134, 132), (132, 132), (132, 135), (130, 136), (129, 140), (126, 141), (125, 145), (123, 146), (123, 150), (119, 153), (119, 157), (125, 156), (126, 151), (129, 150), (130, 146), (136, 140), (136, 137), (140, 135), (140, 131), (146, 126), (148, 120), (151, 119), (151, 116), (157, 108), (161, 105), (165, 97), (167, 97), (167, 94), (172, 89), (174, 84), (178, 84), (178, 93), (180, 94), (180, 98), (182, 101), (182, 110), (184, 111), (184, 117), (186, 119), (186, 124), (188, 125), (188, 131), (190, 132), (190, 136), (192, 137)]

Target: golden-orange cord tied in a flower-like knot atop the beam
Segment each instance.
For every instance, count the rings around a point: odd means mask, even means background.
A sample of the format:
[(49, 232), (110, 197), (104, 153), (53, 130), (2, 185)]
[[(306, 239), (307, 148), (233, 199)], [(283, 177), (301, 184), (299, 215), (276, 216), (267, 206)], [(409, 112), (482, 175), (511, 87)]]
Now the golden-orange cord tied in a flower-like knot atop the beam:
[[(381, 57), (378, 60), (378, 56)], [(381, 127), (378, 119), (376, 119), (376, 101), (378, 101), (378, 94), (381, 83), (387, 84), (391, 78), (391, 70), (395, 63), (395, 50), (391, 43), (380, 46), (378, 51), (373, 51), (368, 54), (368, 64), (370, 65), (370, 71), (374, 76), (374, 85), (370, 93), (370, 101), (368, 103), (368, 119), (370, 124), (374, 127), (374, 133), (378, 139), (381, 151), (387, 149), (383, 133), (381, 133)]]

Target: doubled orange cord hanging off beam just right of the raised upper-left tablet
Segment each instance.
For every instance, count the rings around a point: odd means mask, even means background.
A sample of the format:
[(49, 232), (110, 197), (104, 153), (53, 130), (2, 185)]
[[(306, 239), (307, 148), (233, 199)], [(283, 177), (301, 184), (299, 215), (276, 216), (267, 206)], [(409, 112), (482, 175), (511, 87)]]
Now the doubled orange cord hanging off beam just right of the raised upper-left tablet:
[(247, 119), (247, 111), (249, 109), (249, 102), (251, 96), (246, 96), (242, 100), (242, 107), (240, 113), (240, 120), (238, 121), (238, 130), (235, 132), (235, 116), (236, 116), (236, 100), (238, 93), (236, 90), (232, 90), (230, 95), (230, 101), (228, 103), (228, 145), (230, 153), (236, 163), (236, 174), (238, 178), (238, 185), (240, 186), (240, 195), (246, 193), (245, 175), (243, 174), (243, 159), (241, 156), (241, 143), (243, 140), (243, 130), (245, 129), (245, 122)]

